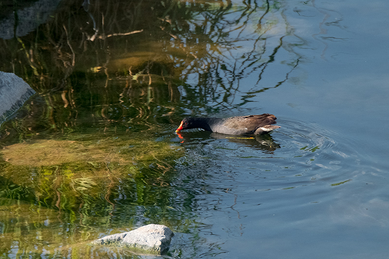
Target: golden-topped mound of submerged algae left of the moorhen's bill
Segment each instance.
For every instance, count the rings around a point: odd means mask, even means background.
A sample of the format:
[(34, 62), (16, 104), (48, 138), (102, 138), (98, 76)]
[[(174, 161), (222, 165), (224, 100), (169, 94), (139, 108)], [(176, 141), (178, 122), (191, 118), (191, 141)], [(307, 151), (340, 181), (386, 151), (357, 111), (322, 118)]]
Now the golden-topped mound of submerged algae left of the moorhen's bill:
[[(178, 148), (166, 142), (124, 138), (13, 144), (1, 152), (1, 177), (24, 188), (23, 196), (35, 197), (31, 203), (58, 209), (76, 209), (84, 196), (99, 199), (104, 195), (110, 202), (117, 198), (123, 179), (136, 185), (158, 181), (166, 185), (163, 176), (172, 173)], [(144, 170), (152, 183), (145, 179), (136, 182)], [(2, 194), (8, 198), (6, 191)]]

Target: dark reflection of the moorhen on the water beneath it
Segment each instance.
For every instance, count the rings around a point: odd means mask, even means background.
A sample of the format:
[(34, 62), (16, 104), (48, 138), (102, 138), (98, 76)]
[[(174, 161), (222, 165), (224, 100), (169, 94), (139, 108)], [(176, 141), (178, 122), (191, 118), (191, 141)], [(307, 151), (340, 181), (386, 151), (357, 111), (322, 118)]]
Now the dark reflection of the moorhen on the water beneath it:
[(176, 132), (178, 138), (181, 139), (181, 143), (185, 141), (193, 140), (206, 140), (211, 138), (216, 139), (227, 139), (233, 143), (240, 143), (248, 147), (253, 147), (258, 150), (272, 152), (278, 148), (281, 148), (279, 144), (274, 142), (273, 138), (269, 134), (264, 135), (226, 135), (215, 132), (197, 131), (197, 132)]

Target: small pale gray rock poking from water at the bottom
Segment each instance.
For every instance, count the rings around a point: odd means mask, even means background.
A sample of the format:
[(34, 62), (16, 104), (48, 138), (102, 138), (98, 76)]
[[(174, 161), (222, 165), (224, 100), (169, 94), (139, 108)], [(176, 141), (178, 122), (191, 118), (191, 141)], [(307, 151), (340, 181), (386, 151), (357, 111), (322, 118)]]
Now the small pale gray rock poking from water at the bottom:
[(135, 230), (106, 236), (92, 244), (126, 246), (135, 252), (161, 254), (169, 249), (174, 236), (164, 225), (148, 224)]

